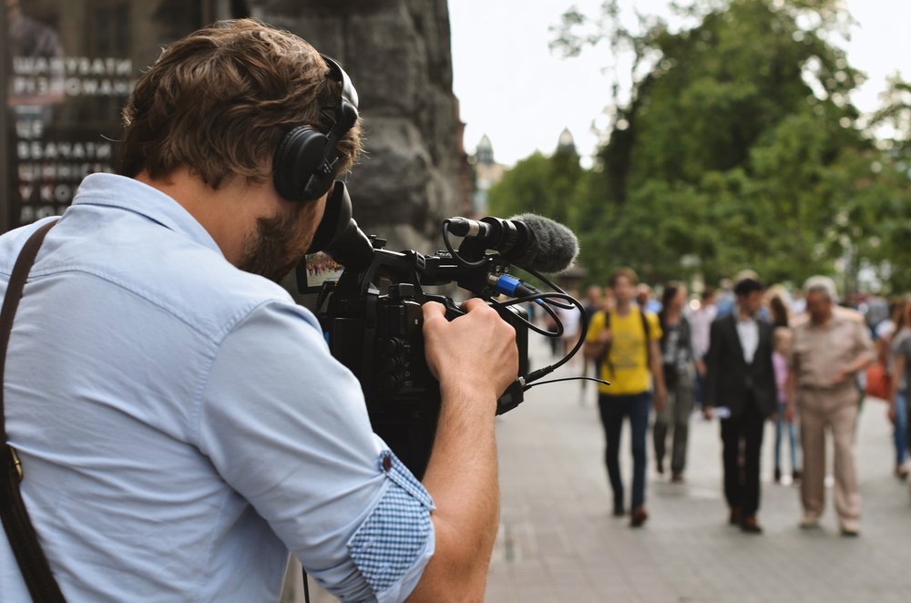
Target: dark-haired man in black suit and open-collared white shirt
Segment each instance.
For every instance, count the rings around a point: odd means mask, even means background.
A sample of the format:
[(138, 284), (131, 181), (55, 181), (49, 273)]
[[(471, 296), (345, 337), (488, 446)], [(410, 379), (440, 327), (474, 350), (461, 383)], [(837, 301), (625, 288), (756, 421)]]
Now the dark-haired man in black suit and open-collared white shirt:
[(734, 293), (734, 312), (711, 323), (705, 357), (705, 415), (711, 417), (722, 406), (731, 412), (722, 417), (724, 496), (731, 507), (731, 523), (744, 532), (759, 534), (763, 531), (756, 521), (760, 448), (765, 419), (776, 403), (772, 325), (757, 314), (763, 304), (762, 283), (743, 279)]

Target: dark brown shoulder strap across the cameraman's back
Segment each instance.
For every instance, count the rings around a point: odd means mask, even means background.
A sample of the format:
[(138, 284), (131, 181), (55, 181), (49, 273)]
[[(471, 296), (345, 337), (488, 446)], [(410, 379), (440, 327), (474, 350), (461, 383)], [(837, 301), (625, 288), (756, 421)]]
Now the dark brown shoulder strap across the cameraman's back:
[(54, 574), (51, 573), (51, 567), (38, 542), (32, 520), (26, 511), (26, 503), (22, 500), (22, 492), (19, 490), (22, 469), (15, 451), (6, 444), (3, 383), (6, 347), (9, 344), (9, 334), (13, 330), (15, 311), (19, 307), (28, 272), (35, 263), (41, 243), (44, 242), (47, 231), (55, 224), (56, 220), (48, 222), (26, 241), (25, 247), (16, 258), (13, 274), (6, 287), (3, 308), (0, 309), (0, 439), (3, 440), (0, 442), (0, 517), (3, 519), (6, 537), (13, 549), (15, 560), (26, 579), (28, 592), (35, 603), (66, 603), (66, 599), (63, 598)]

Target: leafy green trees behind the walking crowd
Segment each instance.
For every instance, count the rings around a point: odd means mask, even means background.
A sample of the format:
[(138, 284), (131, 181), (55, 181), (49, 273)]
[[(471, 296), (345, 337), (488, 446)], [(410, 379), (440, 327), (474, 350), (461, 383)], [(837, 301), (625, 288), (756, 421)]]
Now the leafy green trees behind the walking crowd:
[[(632, 33), (616, 2), (563, 16), (552, 46), (574, 56), (607, 41), (632, 57), (632, 87), (606, 98), (595, 169), (561, 179), (556, 157), (532, 156), (491, 202), (566, 221), (599, 280), (627, 264), (650, 281), (752, 268), (768, 281), (840, 271), (849, 288), (858, 272), (911, 287), (911, 87), (894, 78), (882, 110), (861, 118), (850, 94), (863, 76), (829, 41), (851, 23), (835, 0), (677, 10), (691, 26), (640, 15)], [(889, 138), (876, 142), (877, 128)]]

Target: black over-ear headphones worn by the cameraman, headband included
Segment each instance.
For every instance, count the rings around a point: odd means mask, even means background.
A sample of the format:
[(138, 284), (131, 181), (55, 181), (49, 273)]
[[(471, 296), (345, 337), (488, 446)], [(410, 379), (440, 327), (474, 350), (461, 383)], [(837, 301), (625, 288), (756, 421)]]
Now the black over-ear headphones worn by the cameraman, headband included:
[(326, 77), (342, 85), (342, 97), (335, 105), (335, 123), (328, 134), (298, 126), (285, 134), (275, 149), (272, 180), (281, 197), (289, 201), (313, 201), (332, 187), (339, 169), (335, 148), (357, 121), (357, 91), (351, 78), (333, 59), (320, 56), (329, 66)]

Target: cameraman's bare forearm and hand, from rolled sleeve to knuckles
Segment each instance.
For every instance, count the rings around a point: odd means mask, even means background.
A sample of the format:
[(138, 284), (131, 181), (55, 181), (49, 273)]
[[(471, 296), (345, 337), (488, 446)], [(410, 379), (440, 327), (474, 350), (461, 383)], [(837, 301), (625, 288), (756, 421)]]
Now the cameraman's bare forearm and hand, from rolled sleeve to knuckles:
[(518, 373), (516, 331), (483, 300), (445, 319), (424, 304), (427, 366), (440, 382), (440, 420), (424, 485), (434, 497), (434, 557), (408, 603), (483, 601), (496, 538), (496, 399)]

